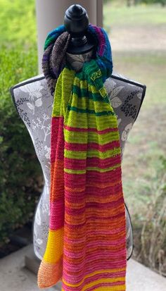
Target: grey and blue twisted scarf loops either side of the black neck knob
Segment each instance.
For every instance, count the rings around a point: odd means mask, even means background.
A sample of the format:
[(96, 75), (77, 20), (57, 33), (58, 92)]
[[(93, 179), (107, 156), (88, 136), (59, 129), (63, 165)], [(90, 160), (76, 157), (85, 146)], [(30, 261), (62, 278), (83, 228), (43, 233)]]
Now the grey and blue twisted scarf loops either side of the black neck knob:
[[(97, 59), (98, 66), (106, 69), (107, 77), (110, 76), (113, 71), (113, 61), (110, 42), (106, 32), (103, 28), (89, 25), (87, 35), (93, 37), (94, 42), (96, 42), (96, 56), (99, 56)], [(42, 69), (51, 94), (54, 94), (58, 76), (65, 67), (65, 53), (68, 49), (69, 42), (70, 35), (65, 31), (64, 25), (60, 25), (46, 37)], [(105, 80), (103, 79), (103, 82)]]

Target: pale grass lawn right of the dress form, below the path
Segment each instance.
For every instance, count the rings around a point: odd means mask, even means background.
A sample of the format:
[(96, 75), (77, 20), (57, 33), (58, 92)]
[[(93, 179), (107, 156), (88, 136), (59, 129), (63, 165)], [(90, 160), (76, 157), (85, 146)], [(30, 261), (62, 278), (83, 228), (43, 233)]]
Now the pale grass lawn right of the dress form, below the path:
[[(153, 183), (166, 152), (166, 58), (156, 51), (115, 52), (118, 73), (147, 86), (141, 111), (129, 133), (123, 157), (124, 192), (134, 223), (143, 218), (153, 199)], [(160, 182), (160, 181), (157, 181)], [(156, 183), (156, 181), (155, 181)]]

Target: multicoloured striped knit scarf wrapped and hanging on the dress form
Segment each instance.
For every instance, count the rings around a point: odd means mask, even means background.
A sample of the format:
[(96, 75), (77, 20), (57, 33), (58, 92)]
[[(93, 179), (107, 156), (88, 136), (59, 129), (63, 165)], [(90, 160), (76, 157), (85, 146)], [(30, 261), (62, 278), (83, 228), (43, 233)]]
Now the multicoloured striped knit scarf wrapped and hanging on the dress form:
[(70, 35), (49, 33), (42, 68), (51, 94), (49, 237), (39, 288), (126, 290), (126, 219), (117, 116), (103, 85), (113, 70), (110, 43), (89, 25), (95, 57), (75, 72), (65, 63)]

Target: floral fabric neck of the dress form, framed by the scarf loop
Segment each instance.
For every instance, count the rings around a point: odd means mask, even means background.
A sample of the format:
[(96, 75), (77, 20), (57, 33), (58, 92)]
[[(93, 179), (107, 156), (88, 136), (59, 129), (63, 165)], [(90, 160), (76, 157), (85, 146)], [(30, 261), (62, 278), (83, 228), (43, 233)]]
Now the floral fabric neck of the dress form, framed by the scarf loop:
[(69, 54), (66, 53), (66, 61), (78, 72), (82, 69), (85, 62), (90, 61), (93, 55), (93, 49), (86, 54)]

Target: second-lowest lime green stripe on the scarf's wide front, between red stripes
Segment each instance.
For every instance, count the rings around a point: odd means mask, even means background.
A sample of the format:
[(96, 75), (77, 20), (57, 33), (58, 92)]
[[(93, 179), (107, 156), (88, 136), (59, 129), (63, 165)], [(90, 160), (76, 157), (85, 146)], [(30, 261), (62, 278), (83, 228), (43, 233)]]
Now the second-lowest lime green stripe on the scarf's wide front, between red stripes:
[(65, 158), (68, 159), (98, 158), (103, 160), (117, 154), (120, 154), (120, 148), (109, 149), (108, 151), (97, 151), (94, 149), (89, 149), (88, 151), (69, 151), (68, 149), (65, 149)]

